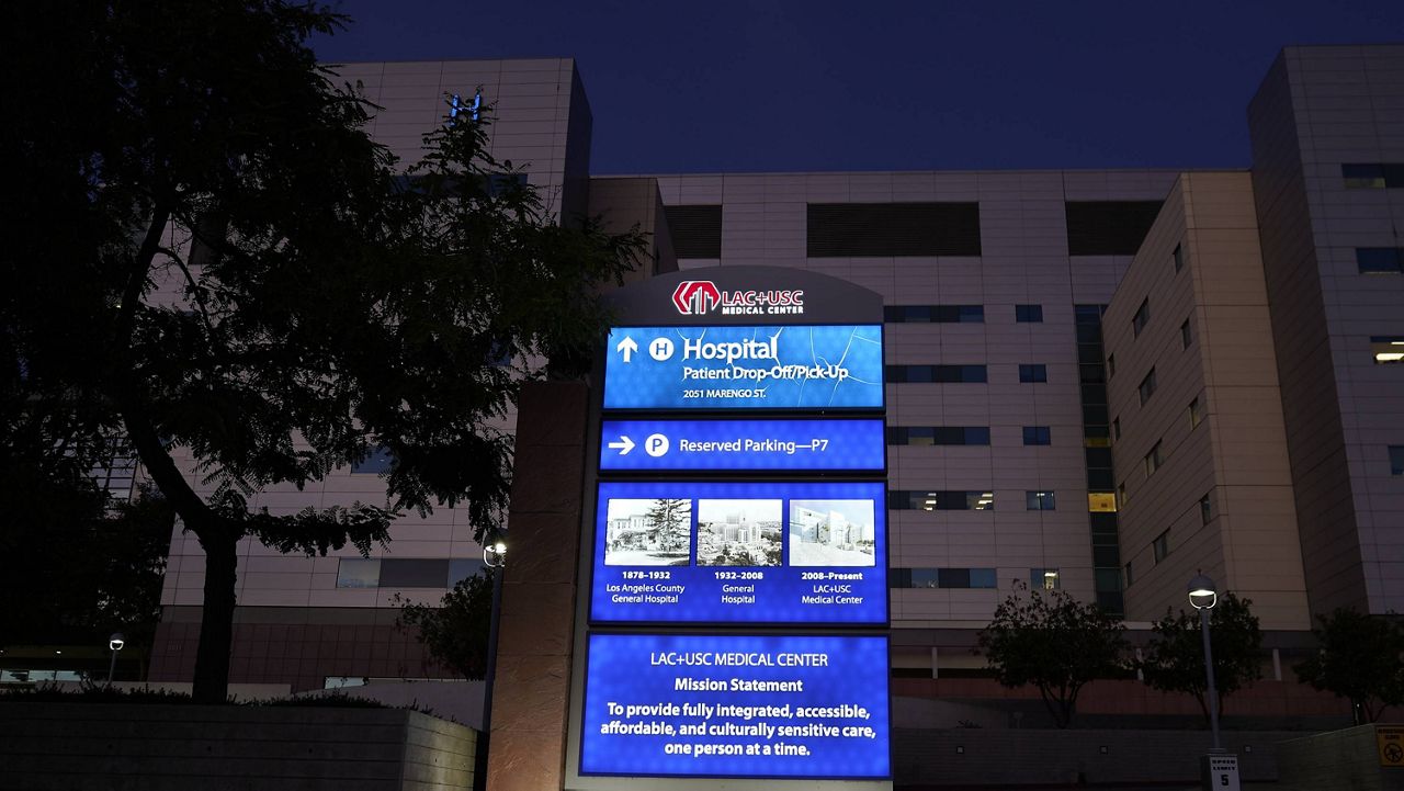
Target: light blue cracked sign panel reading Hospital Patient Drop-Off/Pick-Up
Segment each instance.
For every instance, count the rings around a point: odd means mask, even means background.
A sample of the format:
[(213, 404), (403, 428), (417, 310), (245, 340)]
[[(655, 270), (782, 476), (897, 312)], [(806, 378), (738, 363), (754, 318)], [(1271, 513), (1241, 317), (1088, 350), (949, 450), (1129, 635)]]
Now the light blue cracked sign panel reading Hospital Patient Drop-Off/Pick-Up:
[(882, 325), (615, 327), (605, 409), (880, 409)]

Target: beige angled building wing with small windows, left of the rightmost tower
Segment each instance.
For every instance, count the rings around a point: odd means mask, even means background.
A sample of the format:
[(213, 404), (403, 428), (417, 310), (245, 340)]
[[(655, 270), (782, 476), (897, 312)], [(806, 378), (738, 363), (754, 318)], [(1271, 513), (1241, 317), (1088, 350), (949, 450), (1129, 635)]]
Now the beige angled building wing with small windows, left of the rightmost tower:
[[(1264, 628), (1309, 628), (1247, 173), (1181, 176), (1118, 285), (1104, 334), (1116, 370), (1108, 391), (1127, 617), (1186, 608), (1185, 584), (1202, 570), (1251, 599)], [(1143, 403), (1153, 368), (1157, 388)], [(1164, 461), (1148, 472), (1157, 444)], [(1168, 555), (1157, 558), (1161, 537)]]

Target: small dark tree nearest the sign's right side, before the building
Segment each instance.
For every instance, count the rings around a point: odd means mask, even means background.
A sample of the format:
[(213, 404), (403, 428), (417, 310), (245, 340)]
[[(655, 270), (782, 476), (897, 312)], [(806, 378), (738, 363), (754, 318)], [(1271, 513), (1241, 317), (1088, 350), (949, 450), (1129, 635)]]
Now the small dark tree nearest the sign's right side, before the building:
[(1097, 604), (1084, 604), (1061, 590), (1016, 590), (995, 610), (977, 635), (1000, 684), (1033, 684), (1059, 728), (1067, 728), (1077, 695), (1094, 679), (1125, 670), (1126, 625)]

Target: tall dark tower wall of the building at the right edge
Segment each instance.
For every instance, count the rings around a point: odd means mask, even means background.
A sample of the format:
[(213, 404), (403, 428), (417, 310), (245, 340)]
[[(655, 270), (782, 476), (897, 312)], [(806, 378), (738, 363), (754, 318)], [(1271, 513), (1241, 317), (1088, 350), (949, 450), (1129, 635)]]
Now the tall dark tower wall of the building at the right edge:
[(1311, 608), (1404, 610), (1404, 277), (1355, 249), (1400, 247), (1404, 194), (1348, 188), (1342, 164), (1404, 163), (1404, 48), (1290, 46), (1248, 111), (1254, 190)]

